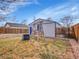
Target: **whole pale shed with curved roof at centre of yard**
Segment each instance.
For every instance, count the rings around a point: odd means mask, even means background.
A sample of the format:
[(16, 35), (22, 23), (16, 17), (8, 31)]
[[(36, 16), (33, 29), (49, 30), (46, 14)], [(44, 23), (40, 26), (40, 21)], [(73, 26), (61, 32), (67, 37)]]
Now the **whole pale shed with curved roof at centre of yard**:
[(40, 35), (42, 33), (44, 37), (55, 38), (58, 32), (57, 29), (60, 27), (61, 25), (55, 21), (39, 18), (29, 24), (29, 33), (31, 35)]

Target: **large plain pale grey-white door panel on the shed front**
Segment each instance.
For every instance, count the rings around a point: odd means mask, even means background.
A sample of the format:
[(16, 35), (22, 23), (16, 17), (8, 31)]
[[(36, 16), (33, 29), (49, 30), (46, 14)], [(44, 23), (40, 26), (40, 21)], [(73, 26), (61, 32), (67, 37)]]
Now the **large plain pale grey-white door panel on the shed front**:
[(55, 37), (55, 23), (43, 24), (43, 31), (45, 37)]

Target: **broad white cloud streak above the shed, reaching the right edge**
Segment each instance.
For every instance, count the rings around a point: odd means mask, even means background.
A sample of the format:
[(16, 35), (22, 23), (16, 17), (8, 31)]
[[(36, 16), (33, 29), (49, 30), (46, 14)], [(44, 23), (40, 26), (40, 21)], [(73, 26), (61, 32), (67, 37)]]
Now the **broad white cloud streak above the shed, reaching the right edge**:
[(51, 17), (52, 19), (60, 19), (62, 16), (66, 15), (78, 15), (79, 9), (77, 5), (71, 6), (70, 4), (64, 4), (61, 6), (56, 6), (55, 8), (53, 7), (48, 7), (39, 13), (37, 13), (35, 16), (36, 18), (49, 18)]

